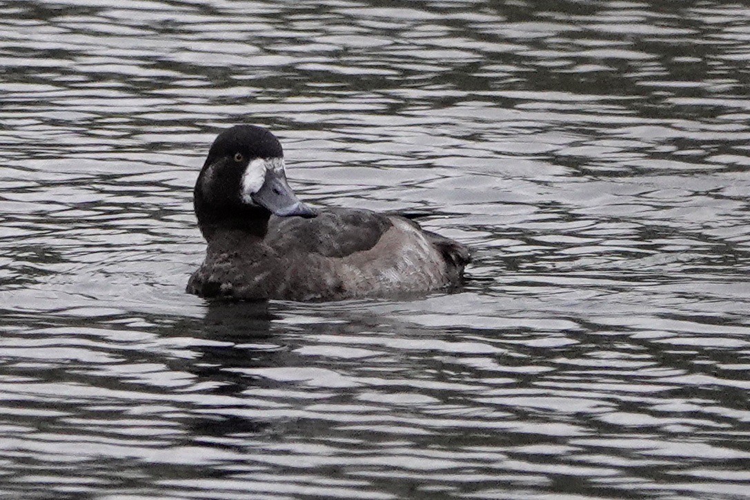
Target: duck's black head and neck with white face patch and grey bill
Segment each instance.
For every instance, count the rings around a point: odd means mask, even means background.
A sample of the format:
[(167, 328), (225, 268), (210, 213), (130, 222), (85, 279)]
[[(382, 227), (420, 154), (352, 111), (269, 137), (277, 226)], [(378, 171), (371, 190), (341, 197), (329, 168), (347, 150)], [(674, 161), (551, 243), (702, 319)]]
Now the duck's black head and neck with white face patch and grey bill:
[(254, 125), (236, 125), (219, 134), (208, 151), (194, 195), (205, 238), (216, 229), (242, 229), (262, 237), (271, 214), (315, 217), (287, 184), (278, 139)]

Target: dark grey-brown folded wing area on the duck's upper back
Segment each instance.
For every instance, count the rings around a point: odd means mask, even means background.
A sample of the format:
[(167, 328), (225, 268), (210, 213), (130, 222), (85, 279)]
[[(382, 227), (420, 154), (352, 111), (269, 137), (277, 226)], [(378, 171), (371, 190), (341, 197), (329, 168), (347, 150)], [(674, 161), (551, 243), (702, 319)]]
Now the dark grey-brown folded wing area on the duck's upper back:
[(272, 216), (264, 241), (281, 254), (300, 252), (345, 257), (370, 250), (391, 227), (391, 219), (386, 214), (328, 208), (312, 219)]

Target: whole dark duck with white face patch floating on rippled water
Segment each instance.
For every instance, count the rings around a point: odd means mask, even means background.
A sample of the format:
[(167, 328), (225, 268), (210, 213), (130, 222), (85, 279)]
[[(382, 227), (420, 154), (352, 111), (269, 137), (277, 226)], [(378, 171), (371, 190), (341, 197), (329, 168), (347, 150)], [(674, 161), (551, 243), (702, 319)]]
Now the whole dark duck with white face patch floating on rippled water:
[(413, 217), (363, 208), (312, 208), (287, 181), (284, 151), (269, 130), (223, 130), (193, 190), (208, 246), (187, 283), (199, 297), (341, 301), (456, 289), (466, 245)]

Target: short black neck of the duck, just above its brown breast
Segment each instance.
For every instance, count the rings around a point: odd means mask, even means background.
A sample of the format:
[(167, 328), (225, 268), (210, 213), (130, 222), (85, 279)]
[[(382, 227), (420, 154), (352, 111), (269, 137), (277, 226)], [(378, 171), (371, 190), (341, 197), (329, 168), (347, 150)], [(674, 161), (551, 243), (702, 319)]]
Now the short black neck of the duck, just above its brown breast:
[(265, 208), (239, 207), (209, 208), (199, 202), (195, 204), (195, 214), (198, 217), (200, 232), (206, 241), (217, 232), (243, 232), (248, 236), (263, 239), (269, 229), (271, 212)]

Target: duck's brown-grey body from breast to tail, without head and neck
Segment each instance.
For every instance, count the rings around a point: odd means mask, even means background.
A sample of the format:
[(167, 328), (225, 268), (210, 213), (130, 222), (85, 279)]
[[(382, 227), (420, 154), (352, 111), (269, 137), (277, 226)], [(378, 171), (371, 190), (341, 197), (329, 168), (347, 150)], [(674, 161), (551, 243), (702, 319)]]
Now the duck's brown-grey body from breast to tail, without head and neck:
[(271, 217), (265, 238), (214, 235), (188, 292), (203, 296), (341, 300), (426, 292), (459, 282), (469, 251), (404, 217), (328, 209)]

